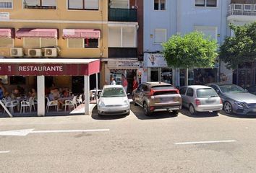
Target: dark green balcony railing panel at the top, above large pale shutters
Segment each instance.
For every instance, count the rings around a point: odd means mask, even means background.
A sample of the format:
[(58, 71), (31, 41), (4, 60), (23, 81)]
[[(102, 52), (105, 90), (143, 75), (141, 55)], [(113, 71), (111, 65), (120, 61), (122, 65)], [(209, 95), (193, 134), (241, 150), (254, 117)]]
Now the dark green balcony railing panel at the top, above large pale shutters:
[(108, 8), (108, 21), (137, 22), (137, 9)]

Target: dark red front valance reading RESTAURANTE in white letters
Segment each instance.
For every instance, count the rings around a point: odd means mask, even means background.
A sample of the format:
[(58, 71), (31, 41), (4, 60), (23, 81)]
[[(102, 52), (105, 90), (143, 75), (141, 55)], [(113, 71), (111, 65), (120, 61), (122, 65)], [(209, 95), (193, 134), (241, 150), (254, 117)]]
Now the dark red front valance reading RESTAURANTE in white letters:
[(84, 76), (88, 64), (0, 64), (0, 75), (7, 76)]

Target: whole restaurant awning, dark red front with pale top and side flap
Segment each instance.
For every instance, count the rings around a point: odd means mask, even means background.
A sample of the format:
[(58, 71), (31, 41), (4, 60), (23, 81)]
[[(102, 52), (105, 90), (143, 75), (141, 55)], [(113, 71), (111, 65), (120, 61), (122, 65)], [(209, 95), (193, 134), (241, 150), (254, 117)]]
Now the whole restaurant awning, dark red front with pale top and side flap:
[(1, 58), (0, 61), (0, 75), (7, 76), (89, 76), (99, 72), (99, 59)]

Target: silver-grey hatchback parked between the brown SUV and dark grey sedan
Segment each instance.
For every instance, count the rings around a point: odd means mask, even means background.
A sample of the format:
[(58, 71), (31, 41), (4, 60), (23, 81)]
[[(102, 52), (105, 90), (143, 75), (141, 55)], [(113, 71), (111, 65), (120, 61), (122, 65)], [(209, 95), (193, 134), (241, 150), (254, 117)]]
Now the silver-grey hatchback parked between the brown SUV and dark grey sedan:
[(182, 106), (189, 108), (189, 112), (192, 115), (195, 115), (197, 112), (213, 112), (218, 114), (223, 108), (221, 97), (209, 86), (182, 86), (179, 89), (179, 94), (182, 95)]

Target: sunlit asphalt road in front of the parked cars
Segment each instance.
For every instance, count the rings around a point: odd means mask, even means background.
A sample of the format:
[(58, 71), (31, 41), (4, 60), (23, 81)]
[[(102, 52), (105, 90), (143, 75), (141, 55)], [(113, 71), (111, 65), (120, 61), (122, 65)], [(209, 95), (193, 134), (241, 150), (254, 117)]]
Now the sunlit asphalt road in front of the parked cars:
[[(126, 117), (1, 118), (0, 131), (39, 131), (0, 136), (0, 172), (256, 172), (255, 118), (146, 117), (133, 105)], [(42, 131), (88, 129), (109, 131)]]

